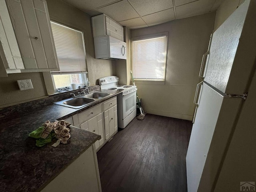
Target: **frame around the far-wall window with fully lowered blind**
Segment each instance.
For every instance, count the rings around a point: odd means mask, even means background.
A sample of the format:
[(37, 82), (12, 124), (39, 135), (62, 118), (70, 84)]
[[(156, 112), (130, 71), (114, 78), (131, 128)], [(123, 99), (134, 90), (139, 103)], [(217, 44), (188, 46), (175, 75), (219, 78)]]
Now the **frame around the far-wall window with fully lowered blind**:
[(133, 63), (133, 53), (134, 50), (132, 49), (132, 43), (134, 41), (138, 40), (147, 40), (152, 38), (158, 38), (158, 37), (166, 37), (166, 44), (165, 44), (165, 58), (164, 58), (164, 76), (163, 79), (138, 79), (134, 78), (134, 81), (138, 84), (165, 84), (166, 79), (166, 64), (167, 64), (167, 48), (168, 48), (168, 32), (161, 32), (156, 34), (149, 34), (149, 35), (143, 35), (143, 36), (136, 36), (131, 38), (131, 70), (133, 69), (134, 63)]

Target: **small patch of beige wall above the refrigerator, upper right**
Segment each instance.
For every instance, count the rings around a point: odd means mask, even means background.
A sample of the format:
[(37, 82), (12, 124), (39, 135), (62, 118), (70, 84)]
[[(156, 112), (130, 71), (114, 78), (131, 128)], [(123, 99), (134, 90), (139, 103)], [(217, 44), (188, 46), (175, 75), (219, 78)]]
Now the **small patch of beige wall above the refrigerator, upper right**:
[(225, 0), (216, 12), (214, 31), (242, 4), (244, 0)]

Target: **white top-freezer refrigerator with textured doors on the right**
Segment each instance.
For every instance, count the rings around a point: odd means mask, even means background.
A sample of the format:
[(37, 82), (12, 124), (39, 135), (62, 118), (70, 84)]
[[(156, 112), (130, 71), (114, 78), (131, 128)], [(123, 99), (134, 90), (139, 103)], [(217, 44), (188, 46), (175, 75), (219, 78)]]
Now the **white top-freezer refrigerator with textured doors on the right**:
[(256, 182), (256, 0), (212, 34), (196, 89), (188, 192), (239, 192)]

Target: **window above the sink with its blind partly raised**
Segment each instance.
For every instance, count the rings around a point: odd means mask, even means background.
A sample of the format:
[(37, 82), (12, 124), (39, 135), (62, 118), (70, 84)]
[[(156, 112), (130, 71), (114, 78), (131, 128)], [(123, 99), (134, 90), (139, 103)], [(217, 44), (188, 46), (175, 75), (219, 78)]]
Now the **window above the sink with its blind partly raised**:
[(52, 72), (54, 88), (86, 81), (87, 66), (83, 32), (51, 22), (60, 71)]

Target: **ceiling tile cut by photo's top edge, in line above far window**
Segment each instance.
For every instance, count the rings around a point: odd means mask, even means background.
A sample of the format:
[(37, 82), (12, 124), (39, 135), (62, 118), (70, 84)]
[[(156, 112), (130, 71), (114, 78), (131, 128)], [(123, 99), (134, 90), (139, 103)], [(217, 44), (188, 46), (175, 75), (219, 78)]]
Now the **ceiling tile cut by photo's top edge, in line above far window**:
[(172, 0), (128, 0), (140, 16), (172, 8)]

